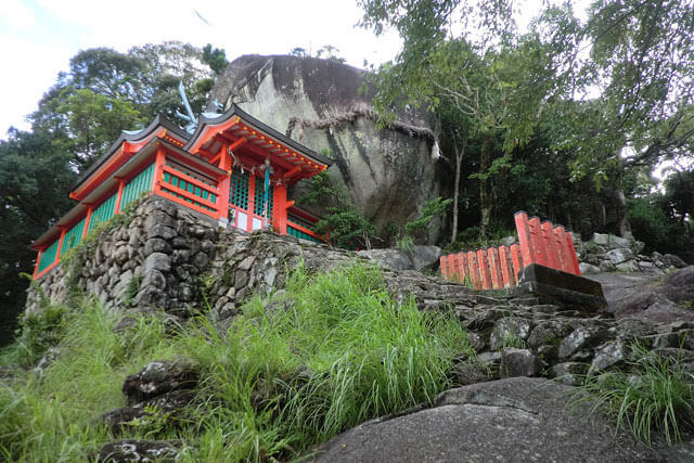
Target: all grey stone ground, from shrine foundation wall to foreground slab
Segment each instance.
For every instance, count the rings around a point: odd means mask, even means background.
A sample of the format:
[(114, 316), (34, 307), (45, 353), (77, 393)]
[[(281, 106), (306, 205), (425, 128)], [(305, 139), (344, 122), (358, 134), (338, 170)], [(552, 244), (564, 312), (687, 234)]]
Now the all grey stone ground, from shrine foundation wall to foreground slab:
[[(156, 227), (147, 227), (152, 221)], [(609, 243), (591, 245), (592, 254), (582, 257), (612, 262), (629, 256), (624, 250), (628, 244), (613, 243), (617, 247), (608, 249)], [(475, 293), (423, 274), (417, 270), (438, 258), (433, 248), (419, 247), (408, 256), (391, 250), (356, 255), (274, 233), (220, 232), (160, 200), (141, 205), (130, 223), (106, 231), (90, 248), (95, 252), (83, 256), (81, 266), (59, 269), (44, 280), (49, 297), (64, 297), (69, 284), (77, 284), (95, 290), (114, 309), (158, 306), (180, 323), (204, 295), (223, 327), (243, 300), (281, 288), (296, 266), (321, 270), (359, 258), (384, 268), (396, 299), (412, 295), (422, 310), (452, 311), (478, 352), (474, 362), (461, 356), (454, 365), (453, 380), (463, 387), (444, 393), (434, 407), (348, 430), (316, 449), (311, 456), (320, 461), (694, 461), (691, 437), (677, 447), (648, 449), (627, 434), (615, 435), (613, 424), (589, 409), (567, 408), (581, 375), (599, 375), (633, 360), (637, 343), (694, 370), (694, 267), (676, 269), (683, 262), (674, 258), (630, 250), (631, 257), (619, 263), (639, 266), (639, 272), (595, 266), (611, 270), (590, 274), (603, 285), (608, 308), (591, 311), (544, 304), (531, 294)], [(70, 276), (70, 271), (77, 274)], [(39, 299), (29, 298), (35, 310)], [(126, 381), (130, 404), (102, 420), (117, 435), (146, 416), (147, 406), (177, 416), (193, 400), (196, 380), (185, 361), (155, 361)], [(101, 458), (167, 459), (180, 446), (117, 441), (102, 449)]]

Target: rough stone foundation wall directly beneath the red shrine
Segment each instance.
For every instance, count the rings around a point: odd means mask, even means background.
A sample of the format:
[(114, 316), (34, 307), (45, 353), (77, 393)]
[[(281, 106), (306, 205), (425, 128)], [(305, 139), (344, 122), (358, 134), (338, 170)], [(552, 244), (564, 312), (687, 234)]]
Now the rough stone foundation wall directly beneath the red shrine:
[(220, 229), (156, 196), (118, 221), (41, 276), (29, 290), (27, 312), (40, 310), (43, 299), (63, 304), (70, 293), (82, 292), (113, 310), (163, 309), (188, 317), (209, 306), (222, 317), (252, 294), (281, 287), (299, 260), (321, 269), (356, 256), (272, 232)]

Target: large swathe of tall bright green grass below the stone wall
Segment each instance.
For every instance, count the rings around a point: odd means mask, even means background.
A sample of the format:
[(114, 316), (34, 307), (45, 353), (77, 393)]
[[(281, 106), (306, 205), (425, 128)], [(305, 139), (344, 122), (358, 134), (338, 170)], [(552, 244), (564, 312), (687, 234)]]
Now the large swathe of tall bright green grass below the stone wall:
[(413, 300), (396, 307), (373, 268), (300, 268), (286, 290), (253, 298), (226, 332), (200, 314), (174, 334), (155, 317), (115, 333), (119, 317), (86, 304), (66, 318), (63, 353), (42, 377), (25, 373), (0, 388), (0, 455), (86, 458), (113, 438), (94, 423), (125, 404), (124, 377), (182, 356), (201, 369), (193, 420), (134, 435), (182, 439), (190, 461), (291, 459), (365, 420), (430, 402), (451, 385), (452, 357), (474, 353), (454, 318), (424, 314)]

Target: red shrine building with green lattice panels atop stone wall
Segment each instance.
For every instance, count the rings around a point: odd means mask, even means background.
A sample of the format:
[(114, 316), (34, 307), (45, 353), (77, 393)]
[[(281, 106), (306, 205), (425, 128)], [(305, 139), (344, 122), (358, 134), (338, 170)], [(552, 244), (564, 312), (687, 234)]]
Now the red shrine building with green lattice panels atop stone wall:
[(145, 194), (172, 201), (220, 227), (320, 242), (314, 216), (287, 200), (287, 187), (332, 164), (239, 107), (204, 114), (191, 134), (163, 116), (145, 129), (123, 132), (77, 181), (78, 202), (31, 245), (34, 278), (55, 267), (99, 224)]

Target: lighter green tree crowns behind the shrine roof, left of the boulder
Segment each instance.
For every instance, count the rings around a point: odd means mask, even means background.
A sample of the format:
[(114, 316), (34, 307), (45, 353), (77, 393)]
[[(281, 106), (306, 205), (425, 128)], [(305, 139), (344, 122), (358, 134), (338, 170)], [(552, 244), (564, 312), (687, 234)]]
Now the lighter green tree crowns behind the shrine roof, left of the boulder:
[(223, 50), (211, 44), (200, 50), (167, 41), (133, 47), (127, 53), (83, 50), (39, 102), (33, 127), (52, 133), (54, 143), (75, 153), (74, 165), (81, 171), (121, 130), (142, 127), (159, 113), (176, 120), (176, 112), (184, 111), (179, 81), (193, 111), (201, 112), (226, 64)]

